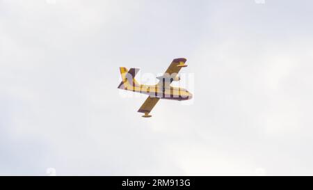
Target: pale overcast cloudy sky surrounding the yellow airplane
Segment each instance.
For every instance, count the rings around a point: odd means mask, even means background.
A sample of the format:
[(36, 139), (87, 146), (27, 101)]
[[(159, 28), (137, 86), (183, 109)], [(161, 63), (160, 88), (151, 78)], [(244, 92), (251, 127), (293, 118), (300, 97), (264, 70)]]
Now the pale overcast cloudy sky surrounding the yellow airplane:
[[(0, 0), (0, 175), (313, 175), (312, 6)], [(193, 100), (142, 118), (119, 67), (179, 57)]]

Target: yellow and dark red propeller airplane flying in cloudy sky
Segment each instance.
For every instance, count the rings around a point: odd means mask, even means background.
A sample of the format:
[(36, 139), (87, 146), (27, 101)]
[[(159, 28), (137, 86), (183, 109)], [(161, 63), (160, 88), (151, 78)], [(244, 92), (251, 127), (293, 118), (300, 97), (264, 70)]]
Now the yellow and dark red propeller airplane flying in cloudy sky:
[(120, 68), (122, 81), (118, 88), (149, 95), (138, 112), (144, 113), (143, 118), (150, 118), (150, 111), (152, 111), (160, 99), (182, 101), (191, 100), (193, 97), (193, 95), (184, 88), (170, 86), (172, 81), (179, 81), (180, 77), (178, 76), (178, 72), (181, 68), (187, 66), (185, 64), (186, 61), (186, 58), (175, 58), (172, 63), (170, 63), (166, 72), (162, 76), (157, 77), (159, 83), (156, 85), (139, 84), (136, 79), (134, 79), (139, 71), (138, 68), (131, 68), (129, 70), (127, 70), (127, 68)]

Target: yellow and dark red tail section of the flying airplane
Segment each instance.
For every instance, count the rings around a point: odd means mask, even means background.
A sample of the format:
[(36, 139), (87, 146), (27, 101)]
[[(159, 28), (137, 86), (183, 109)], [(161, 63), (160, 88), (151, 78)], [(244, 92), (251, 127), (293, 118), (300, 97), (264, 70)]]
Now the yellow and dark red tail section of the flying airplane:
[(131, 68), (129, 71), (127, 68), (120, 68), (120, 75), (122, 76), (122, 82), (118, 86), (120, 89), (124, 90), (134, 90), (135, 86), (141, 86), (136, 81), (135, 76), (138, 73), (139, 69)]

